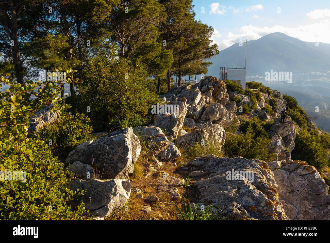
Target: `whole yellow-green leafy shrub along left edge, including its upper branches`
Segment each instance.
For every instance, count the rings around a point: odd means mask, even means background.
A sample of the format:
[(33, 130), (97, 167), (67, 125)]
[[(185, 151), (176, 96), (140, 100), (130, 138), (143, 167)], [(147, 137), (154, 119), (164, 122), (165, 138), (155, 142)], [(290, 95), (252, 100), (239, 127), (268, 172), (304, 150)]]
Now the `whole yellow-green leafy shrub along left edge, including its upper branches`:
[[(3, 73), (1, 70), (0, 74)], [(68, 107), (58, 102), (60, 81), (45, 85), (27, 81), (21, 86), (10, 78), (1, 76), (0, 80), (9, 85), (5, 93), (0, 92), (1, 175), (18, 171), (23, 176), (21, 180), (0, 180), (0, 219), (79, 220), (84, 212), (83, 204), (77, 208), (68, 205), (82, 193), (66, 188), (73, 174), (64, 173), (63, 164), (52, 156), (45, 142), (26, 138), (29, 117), (37, 110), (49, 102), (54, 105), (52, 111), (59, 113)], [(31, 95), (36, 99), (30, 99)]]

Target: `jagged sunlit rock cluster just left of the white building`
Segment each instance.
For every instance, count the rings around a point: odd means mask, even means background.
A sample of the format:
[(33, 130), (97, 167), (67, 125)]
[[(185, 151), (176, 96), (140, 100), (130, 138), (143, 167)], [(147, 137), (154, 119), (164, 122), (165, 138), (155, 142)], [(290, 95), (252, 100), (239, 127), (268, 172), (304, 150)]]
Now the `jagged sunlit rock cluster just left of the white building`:
[[(187, 114), (183, 125), (193, 129), (192, 133), (180, 133), (177, 139), (179, 144), (193, 145), (195, 142), (202, 143), (208, 139), (224, 143), (226, 135), (224, 128), (228, 127), (236, 115), (236, 102), (229, 101), (226, 85), (222, 80), (209, 76), (196, 84), (193, 89), (189, 85), (174, 87), (167, 94), (160, 96), (163, 100), (175, 102), (185, 99), (187, 103)], [(192, 119), (194, 118), (194, 119)], [(178, 134), (180, 126), (176, 124), (175, 117), (171, 114), (161, 114), (154, 117), (154, 124), (162, 129), (171, 131), (174, 138)], [(181, 124), (181, 123), (180, 123)], [(178, 130), (180, 131), (180, 130)]]

